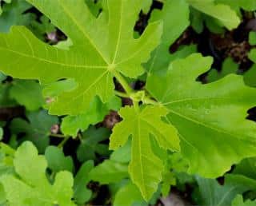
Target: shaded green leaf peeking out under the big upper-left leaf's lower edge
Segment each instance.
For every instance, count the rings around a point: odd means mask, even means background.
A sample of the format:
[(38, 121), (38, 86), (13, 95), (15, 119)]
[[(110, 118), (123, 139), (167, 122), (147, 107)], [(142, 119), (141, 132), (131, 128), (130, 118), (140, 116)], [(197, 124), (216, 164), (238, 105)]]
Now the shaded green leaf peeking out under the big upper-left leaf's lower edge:
[(30, 111), (38, 110), (44, 104), (42, 88), (35, 81), (13, 81), (10, 97)]

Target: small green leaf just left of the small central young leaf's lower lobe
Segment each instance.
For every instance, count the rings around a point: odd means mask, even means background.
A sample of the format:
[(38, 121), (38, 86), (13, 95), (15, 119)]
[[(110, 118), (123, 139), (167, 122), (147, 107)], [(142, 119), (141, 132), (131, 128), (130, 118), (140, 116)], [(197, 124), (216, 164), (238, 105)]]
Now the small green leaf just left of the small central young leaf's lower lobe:
[(127, 164), (114, 160), (104, 160), (90, 171), (90, 180), (97, 181), (100, 184), (115, 183), (128, 176)]

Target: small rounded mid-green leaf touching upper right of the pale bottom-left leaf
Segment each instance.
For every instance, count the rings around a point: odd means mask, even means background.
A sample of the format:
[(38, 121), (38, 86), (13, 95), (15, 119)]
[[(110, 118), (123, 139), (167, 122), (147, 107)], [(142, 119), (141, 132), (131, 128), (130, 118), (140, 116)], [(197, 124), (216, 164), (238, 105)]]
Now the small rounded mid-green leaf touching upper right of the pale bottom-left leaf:
[(62, 170), (73, 172), (73, 160), (71, 156), (65, 156), (62, 149), (49, 146), (46, 148), (45, 156), (48, 163), (48, 168), (50, 168), (52, 172), (60, 172)]

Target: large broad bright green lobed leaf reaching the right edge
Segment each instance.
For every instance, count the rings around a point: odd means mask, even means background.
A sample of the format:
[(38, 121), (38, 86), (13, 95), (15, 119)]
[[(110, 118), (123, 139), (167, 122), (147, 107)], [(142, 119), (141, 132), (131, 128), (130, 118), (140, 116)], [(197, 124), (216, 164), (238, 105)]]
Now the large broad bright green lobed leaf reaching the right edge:
[(202, 85), (196, 79), (211, 63), (211, 57), (192, 54), (173, 61), (164, 75), (151, 75), (146, 85), (178, 129), (189, 172), (210, 178), (256, 154), (256, 125), (246, 120), (247, 110), (255, 105), (256, 90), (244, 85), (238, 75)]

